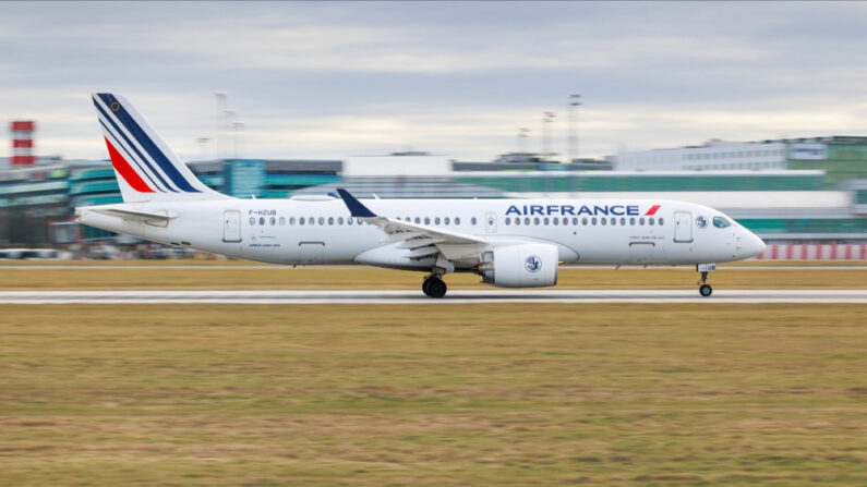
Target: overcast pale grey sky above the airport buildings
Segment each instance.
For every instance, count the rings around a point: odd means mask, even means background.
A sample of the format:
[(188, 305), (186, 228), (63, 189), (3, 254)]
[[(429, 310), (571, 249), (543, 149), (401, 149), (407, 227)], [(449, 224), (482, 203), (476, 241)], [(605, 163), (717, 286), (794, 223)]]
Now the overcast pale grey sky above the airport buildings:
[(865, 26), (864, 2), (0, 2), (0, 115), (86, 159), (95, 92), (185, 160), (486, 161), (521, 127), (541, 151), (545, 111), (565, 160), (570, 93), (579, 157), (866, 135)]

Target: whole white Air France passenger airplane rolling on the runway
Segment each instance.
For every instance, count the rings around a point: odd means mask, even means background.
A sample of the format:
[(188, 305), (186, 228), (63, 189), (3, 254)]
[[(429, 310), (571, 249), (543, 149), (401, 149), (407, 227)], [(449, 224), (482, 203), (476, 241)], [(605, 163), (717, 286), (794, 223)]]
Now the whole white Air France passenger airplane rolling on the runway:
[(193, 172), (124, 97), (93, 95), (122, 204), (75, 208), (75, 220), (147, 241), (284, 265), (361, 264), (426, 275), (474, 272), (501, 288), (557, 283), (561, 264), (689, 265), (708, 272), (764, 242), (707, 206), (662, 199), (245, 199)]

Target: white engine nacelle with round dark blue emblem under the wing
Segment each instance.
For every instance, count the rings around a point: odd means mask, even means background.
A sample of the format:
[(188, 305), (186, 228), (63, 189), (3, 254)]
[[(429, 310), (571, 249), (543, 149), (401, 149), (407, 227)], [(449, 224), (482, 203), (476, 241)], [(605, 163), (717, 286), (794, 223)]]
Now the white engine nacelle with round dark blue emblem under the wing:
[(557, 247), (518, 244), (482, 253), (482, 282), (501, 288), (542, 288), (557, 283)]

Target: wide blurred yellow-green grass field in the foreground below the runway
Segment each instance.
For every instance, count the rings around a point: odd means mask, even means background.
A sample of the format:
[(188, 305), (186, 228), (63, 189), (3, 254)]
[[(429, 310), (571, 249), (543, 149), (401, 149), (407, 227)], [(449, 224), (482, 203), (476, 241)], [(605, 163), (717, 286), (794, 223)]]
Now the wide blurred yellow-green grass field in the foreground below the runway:
[(864, 486), (865, 311), (0, 306), (0, 484)]

